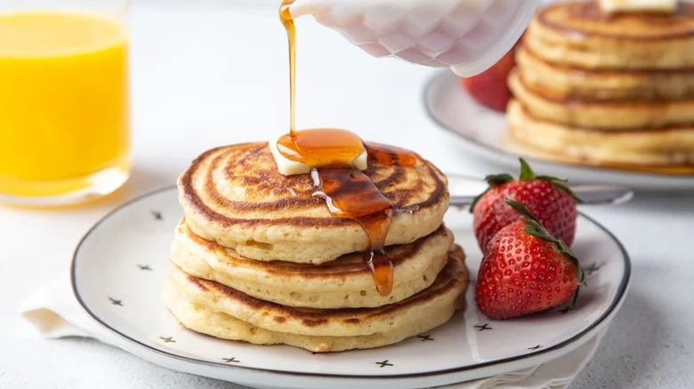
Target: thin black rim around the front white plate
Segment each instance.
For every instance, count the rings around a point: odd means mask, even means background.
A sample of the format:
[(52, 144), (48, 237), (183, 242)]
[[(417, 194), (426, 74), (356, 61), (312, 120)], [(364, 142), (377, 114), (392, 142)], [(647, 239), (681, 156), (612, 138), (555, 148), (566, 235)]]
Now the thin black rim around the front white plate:
[(277, 374), (277, 375), (286, 375), (286, 376), (298, 376), (298, 377), (334, 377), (334, 378), (365, 378), (365, 379), (378, 379), (378, 380), (383, 380), (383, 379), (398, 379), (398, 378), (408, 378), (408, 377), (436, 377), (436, 376), (443, 376), (443, 375), (448, 375), (452, 373), (459, 373), (467, 370), (472, 370), (472, 369), (481, 369), (485, 368), (488, 366), (492, 365), (499, 365), (499, 364), (505, 364), (513, 361), (522, 361), (525, 359), (528, 359), (530, 357), (536, 357), (537, 355), (545, 354), (545, 353), (552, 353), (553, 351), (560, 350), (561, 348), (570, 345), (574, 342), (576, 342), (578, 339), (585, 337), (586, 334), (590, 333), (598, 327), (602, 322), (604, 322), (612, 313), (613, 311), (619, 306), (622, 302), (622, 300), (625, 298), (625, 290), (629, 284), (629, 280), (631, 279), (631, 273), (632, 273), (632, 266), (631, 266), (631, 260), (629, 258), (628, 253), (626, 252), (624, 246), (622, 245), (619, 240), (617, 240), (617, 237), (609, 232), (607, 228), (602, 226), (600, 223), (595, 221), (593, 218), (589, 218), (588, 216), (585, 216), (582, 212), (578, 212), (579, 215), (582, 218), (585, 218), (586, 220), (590, 221), (593, 223), (593, 225), (597, 226), (598, 228), (601, 229), (602, 232), (607, 234), (609, 238), (617, 244), (617, 247), (619, 248), (621, 254), (622, 254), (622, 260), (624, 262), (624, 267), (625, 267), (625, 272), (622, 277), (621, 282), (619, 283), (619, 286), (617, 287), (617, 291), (615, 293), (615, 297), (612, 299), (612, 302), (609, 304), (609, 307), (605, 310), (601, 316), (595, 320), (593, 323), (591, 323), (590, 326), (588, 326), (586, 329), (582, 330), (581, 332), (577, 333), (573, 337), (569, 337), (569, 339), (564, 340), (561, 343), (558, 343), (556, 345), (549, 346), (547, 348), (542, 348), (536, 351), (533, 351), (531, 353), (525, 353), (522, 355), (518, 356), (513, 356), (513, 357), (508, 357), (504, 358), (501, 360), (496, 360), (496, 361), (487, 361), (487, 362), (481, 362), (481, 363), (476, 363), (474, 365), (469, 365), (469, 366), (461, 366), (459, 368), (453, 368), (453, 369), (442, 369), (442, 370), (435, 370), (435, 371), (428, 371), (428, 372), (423, 372), (423, 373), (411, 373), (411, 374), (398, 374), (398, 375), (387, 375), (387, 376), (369, 376), (369, 375), (342, 375), (342, 374), (322, 374), (322, 373), (301, 373), (301, 372), (294, 372), (294, 371), (283, 371), (283, 370), (273, 370), (273, 369), (262, 369), (262, 368), (251, 368), (251, 367), (246, 367), (246, 366), (230, 366), (226, 363), (222, 362), (213, 362), (213, 361), (203, 361), (203, 360), (198, 360), (195, 358), (190, 358), (186, 356), (182, 356), (179, 354), (175, 353), (169, 353), (164, 350), (158, 349), (152, 345), (148, 345), (146, 343), (142, 343), (141, 341), (128, 336), (127, 334), (120, 332), (119, 330), (111, 327), (108, 322), (104, 322), (101, 320), (101, 318), (97, 315), (94, 314), (93, 311), (89, 308), (89, 306), (86, 305), (85, 300), (82, 298), (82, 296), (79, 293), (79, 290), (77, 288), (77, 258), (79, 255), (79, 251), (82, 248), (82, 244), (89, 238), (89, 236), (96, 230), (97, 227), (101, 226), (101, 223), (105, 222), (108, 220), (112, 215), (117, 213), (120, 210), (123, 210), (130, 205), (133, 205), (136, 202), (140, 202), (141, 200), (144, 200), (150, 196), (164, 193), (167, 191), (175, 191), (176, 187), (163, 187), (161, 189), (157, 189), (153, 192), (149, 192), (147, 194), (141, 194), (140, 196), (137, 196), (133, 198), (132, 200), (125, 202), (124, 204), (118, 206), (116, 209), (111, 210), (109, 213), (107, 213), (103, 218), (101, 218), (99, 221), (97, 221), (87, 232), (86, 234), (80, 239), (79, 243), (77, 243), (77, 247), (75, 248), (75, 251), (72, 256), (72, 263), (70, 265), (70, 283), (72, 284), (72, 291), (75, 294), (75, 298), (77, 298), (77, 301), (79, 302), (80, 306), (82, 306), (83, 309), (85, 309), (85, 312), (89, 314), (92, 319), (95, 322), (98, 322), (102, 328), (109, 330), (112, 334), (117, 335), (118, 337), (121, 337), (122, 339), (125, 339), (126, 341), (132, 343), (133, 345), (138, 345), (143, 347), (144, 349), (157, 353), (160, 355), (164, 355), (176, 360), (180, 361), (187, 361), (190, 363), (196, 363), (196, 364), (202, 364), (202, 365), (207, 365), (207, 366), (214, 366), (214, 367), (220, 367), (224, 369), (247, 369), (247, 370), (255, 370), (255, 371), (260, 371), (263, 373), (271, 373), (271, 374)]

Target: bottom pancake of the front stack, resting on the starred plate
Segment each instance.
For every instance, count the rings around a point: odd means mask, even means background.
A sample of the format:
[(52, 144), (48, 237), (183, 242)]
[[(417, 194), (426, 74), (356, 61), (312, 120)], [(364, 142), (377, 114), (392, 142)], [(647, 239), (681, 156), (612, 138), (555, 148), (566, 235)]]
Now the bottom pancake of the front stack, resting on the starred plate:
[(183, 326), (214, 337), (314, 352), (372, 348), (440, 326), (464, 303), (468, 274), (456, 247), (432, 286), (397, 304), (317, 310), (279, 306), (172, 265), (165, 303)]

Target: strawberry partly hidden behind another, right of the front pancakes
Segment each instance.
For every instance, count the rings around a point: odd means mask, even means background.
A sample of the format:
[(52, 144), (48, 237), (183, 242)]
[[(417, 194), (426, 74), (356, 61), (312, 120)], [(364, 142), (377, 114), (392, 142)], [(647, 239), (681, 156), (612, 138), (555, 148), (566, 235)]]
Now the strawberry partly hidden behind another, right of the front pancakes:
[(564, 183), (565, 179), (535, 176), (529, 164), (520, 158), (520, 179), (510, 174), (487, 176), (489, 188), (471, 205), (474, 230), (482, 252), (504, 226), (520, 218), (520, 213), (504, 202), (504, 197), (520, 202), (535, 215), (553, 236), (574, 242), (576, 202), (580, 199)]

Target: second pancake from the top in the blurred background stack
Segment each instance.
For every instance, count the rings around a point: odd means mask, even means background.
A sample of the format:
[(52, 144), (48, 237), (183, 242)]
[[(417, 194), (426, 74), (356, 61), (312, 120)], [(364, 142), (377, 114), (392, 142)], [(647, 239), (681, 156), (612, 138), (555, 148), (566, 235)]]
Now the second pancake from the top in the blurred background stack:
[(525, 46), (516, 49), (520, 76), (530, 89), (551, 99), (692, 99), (694, 69), (671, 71), (600, 71), (558, 66), (541, 60)]

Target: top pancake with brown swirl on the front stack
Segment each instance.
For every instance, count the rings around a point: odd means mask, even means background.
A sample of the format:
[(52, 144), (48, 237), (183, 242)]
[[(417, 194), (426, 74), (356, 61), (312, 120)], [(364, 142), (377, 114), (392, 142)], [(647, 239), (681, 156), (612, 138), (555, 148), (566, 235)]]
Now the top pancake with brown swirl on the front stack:
[[(386, 245), (431, 234), (448, 210), (446, 178), (415, 156), (413, 167), (369, 161), (364, 171), (397, 209)], [(190, 229), (245, 258), (320, 264), (369, 249), (358, 221), (333, 218), (326, 203), (312, 195), (309, 175), (278, 172), (267, 143), (207, 151), (178, 186)]]

